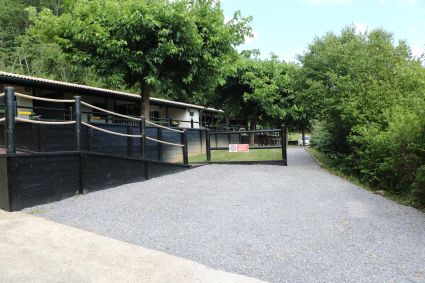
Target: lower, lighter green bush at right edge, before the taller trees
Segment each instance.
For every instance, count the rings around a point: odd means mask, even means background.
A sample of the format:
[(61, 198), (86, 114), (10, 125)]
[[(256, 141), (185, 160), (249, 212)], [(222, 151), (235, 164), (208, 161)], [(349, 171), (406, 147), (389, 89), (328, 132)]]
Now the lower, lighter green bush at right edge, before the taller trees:
[(391, 111), (388, 127), (355, 129), (350, 159), (365, 182), (425, 204), (425, 103)]

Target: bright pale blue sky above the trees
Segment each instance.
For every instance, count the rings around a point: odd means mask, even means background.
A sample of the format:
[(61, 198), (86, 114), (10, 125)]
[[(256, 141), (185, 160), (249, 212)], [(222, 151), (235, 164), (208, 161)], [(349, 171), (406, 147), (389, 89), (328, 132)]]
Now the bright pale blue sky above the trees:
[(253, 16), (254, 38), (239, 49), (259, 49), (295, 60), (315, 36), (354, 25), (359, 32), (382, 27), (406, 40), (414, 55), (425, 50), (425, 0), (221, 0), (226, 17)]

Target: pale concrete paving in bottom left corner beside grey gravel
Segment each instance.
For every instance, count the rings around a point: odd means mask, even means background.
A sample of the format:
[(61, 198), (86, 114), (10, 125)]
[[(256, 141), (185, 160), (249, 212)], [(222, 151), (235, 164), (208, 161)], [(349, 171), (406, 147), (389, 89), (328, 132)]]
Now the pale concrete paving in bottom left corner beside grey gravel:
[(140, 246), (0, 210), (0, 282), (259, 282)]

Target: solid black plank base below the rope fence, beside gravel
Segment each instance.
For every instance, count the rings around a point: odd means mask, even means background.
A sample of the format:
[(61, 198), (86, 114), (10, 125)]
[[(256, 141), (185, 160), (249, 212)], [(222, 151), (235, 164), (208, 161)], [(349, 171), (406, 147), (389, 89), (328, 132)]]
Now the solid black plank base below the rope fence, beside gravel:
[(173, 174), (189, 167), (91, 152), (0, 155), (0, 208), (7, 211)]

